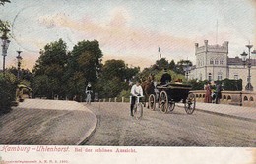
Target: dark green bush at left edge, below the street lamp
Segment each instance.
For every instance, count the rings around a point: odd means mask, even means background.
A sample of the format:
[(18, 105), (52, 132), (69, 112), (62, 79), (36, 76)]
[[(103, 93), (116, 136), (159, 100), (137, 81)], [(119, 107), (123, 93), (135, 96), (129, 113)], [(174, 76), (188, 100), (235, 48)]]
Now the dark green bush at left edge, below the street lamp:
[(17, 79), (11, 73), (0, 74), (0, 113), (10, 111), (12, 101), (16, 100)]

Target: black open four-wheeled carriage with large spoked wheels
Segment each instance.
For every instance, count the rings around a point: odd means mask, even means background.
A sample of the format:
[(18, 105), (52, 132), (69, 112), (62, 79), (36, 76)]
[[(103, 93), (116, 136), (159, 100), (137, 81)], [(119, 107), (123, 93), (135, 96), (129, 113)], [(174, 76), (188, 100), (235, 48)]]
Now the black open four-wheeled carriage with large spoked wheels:
[(149, 95), (149, 108), (155, 110), (159, 102), (160, 111), (167, 113), (174, 110), (175, 103), (183, 102), (186, 113), (192, 114), (196, 106), (196, 97), (190, 90), (191, 86), (184, 84), (155, 85), (154, 93)]

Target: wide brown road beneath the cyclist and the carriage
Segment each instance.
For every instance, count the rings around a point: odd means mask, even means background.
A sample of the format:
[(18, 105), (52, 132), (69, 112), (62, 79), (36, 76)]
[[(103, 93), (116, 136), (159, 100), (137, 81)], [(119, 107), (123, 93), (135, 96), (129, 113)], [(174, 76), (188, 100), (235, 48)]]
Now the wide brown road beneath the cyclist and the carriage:
[(128, 103), (86, 105), (98, 118), (85, 145), (256, 146), (256, 123), (176, 107), (171, 114), (144, 110), (142, 120), (129, 116)]

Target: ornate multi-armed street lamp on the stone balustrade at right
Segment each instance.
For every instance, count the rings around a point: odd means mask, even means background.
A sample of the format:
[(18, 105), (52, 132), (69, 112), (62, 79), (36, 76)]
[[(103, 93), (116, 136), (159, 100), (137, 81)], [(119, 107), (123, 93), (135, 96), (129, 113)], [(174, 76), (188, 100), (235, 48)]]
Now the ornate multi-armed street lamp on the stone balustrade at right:
[[(246, 47), (249, 49), (249, 54), (246, 54), (245, 52), (241, 54), (244, 66), (246, 64), (246, 61), (248, 66), (248, 77), (247, 77), (247, 85), (245, 86), (245, 90), (253, 91), (253, 86), (251, 85), (251, 48), (253, 47), (253, 45), (248, 44), (246, 45)], [(248, 60), (246, 59), (247, 55), (249, 55)]]

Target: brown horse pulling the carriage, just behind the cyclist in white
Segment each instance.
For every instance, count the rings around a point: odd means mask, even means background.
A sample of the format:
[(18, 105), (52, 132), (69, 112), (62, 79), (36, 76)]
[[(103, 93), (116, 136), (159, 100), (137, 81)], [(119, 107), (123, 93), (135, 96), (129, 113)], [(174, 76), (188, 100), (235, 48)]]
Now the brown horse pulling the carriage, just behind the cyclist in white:
[[(154, 94), (154, 75), (153, 74), (150, 74), (149, 77), (145, 80), (145, 81), (142, 81), (142, 89), (143, 89), (143, 92), (145, 94), (145, 97), (144, 97), (144, 107), (146, 106), (146, 102), (148, 101), (149, 99), (149, 96), (151, 94)], [(149, 108), (149, 103), (148, 103), (148, 106), (147, 108)]]

